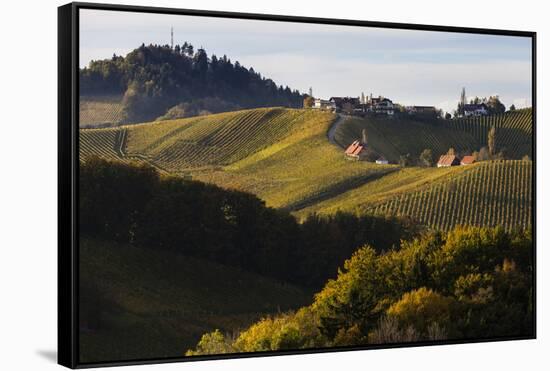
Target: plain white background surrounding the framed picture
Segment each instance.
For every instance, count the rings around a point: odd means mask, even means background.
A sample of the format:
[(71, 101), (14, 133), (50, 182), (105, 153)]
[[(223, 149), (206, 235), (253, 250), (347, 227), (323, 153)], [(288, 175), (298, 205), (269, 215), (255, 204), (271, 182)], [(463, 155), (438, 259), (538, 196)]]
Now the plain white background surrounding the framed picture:
[[(543, 369), (550, 361), (548, 280), (550, 26), (543, 1), (391, 2), (320, 0), (156, 0), (185, 7), (538, 32), (538, 339), (306, 356), (178, 363), (130, 369), (338, 370)], [(59, 369), (56, 352), (56, 64), (62, 1), (10, 1), (0, 15), (0, 368)], [(388, 6), (389, 5), (389, 6)], [(546, 291), (546, 293), (545, 293)], [(145, 368), (144, 368), (145, 367)]]

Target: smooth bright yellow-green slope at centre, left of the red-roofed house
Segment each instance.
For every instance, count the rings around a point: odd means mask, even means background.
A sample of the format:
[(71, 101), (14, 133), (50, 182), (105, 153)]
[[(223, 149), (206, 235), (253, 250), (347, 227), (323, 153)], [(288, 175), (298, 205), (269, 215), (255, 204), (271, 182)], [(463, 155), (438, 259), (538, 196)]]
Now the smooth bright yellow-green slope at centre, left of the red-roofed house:
[(296, 211), (397, 170), (346, 160), (327, 141), (332, 114), (300, 110), (288, 135), (223, 169), (193, 173), (205, 182), (258, 195), (273, 207)]

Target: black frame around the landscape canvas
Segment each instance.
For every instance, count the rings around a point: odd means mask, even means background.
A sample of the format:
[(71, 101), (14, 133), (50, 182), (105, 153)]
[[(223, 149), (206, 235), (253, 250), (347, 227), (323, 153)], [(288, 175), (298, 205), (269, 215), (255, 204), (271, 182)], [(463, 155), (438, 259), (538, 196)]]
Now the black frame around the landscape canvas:
[[(79, 128), (79, 11), (81, 9), (160, 13), (173, 15), (208, 16), (248, 20), (315, 23), (326, 25), (348, 25), (405, 30), (443, 31), (487, 35), (528, 37), (532, 42), (532, 107), (533, 107), (533, 170), (532, 179), (532, 231), (533, 231), (533, 336), (503, 338), (472, 338), (444, 341), (421, 341), (372, 346), (331, 347), (308, 350), (277, 352), (238, 353), (215, 356), (175, 357), (163, 359), (139, 359), (99, 363), (80, 363), (78, 357), (78, 128)], [(481, 343), (507, 340), (528, 340), (536, 338), (536, 32), (486, 28), (449, 27), (438, 25), (372, 22), (347, 19), (310, 18), (269, 14), (203, 11), (190, 9), (157, 8), (97, 3), (70, 3), (58, 8), (58, 363), (69, 368), (100, 366), (122, 366), (137, 364), (168, 363), (213, 359), (231, 359), (260, 356), (280, 356), (288, 354), (309, 354), (321, 352), (341, 352), (352, 350), (417, 347), (427, 345), (449, 345)]]

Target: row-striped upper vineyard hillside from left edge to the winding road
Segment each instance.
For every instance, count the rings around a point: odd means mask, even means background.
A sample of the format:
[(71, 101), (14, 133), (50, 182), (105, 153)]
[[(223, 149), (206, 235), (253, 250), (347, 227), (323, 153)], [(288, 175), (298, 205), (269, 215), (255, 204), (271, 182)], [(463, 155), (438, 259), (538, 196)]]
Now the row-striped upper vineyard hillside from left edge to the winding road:
[[(80, 157), (143, 157), (178, 173), (227, 165), (315, 125), (312, 112), (254, 109), (107, 129), (80, 130)], [(298, 133), (299, 135), (299, 133)]]

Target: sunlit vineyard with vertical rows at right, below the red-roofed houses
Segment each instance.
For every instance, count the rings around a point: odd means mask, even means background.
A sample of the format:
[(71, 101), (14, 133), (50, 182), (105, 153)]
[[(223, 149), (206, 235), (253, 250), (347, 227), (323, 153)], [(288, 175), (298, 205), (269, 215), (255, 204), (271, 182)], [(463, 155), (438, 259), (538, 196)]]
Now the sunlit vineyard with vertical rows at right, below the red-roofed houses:
[(441, 230), (456, 225), (531, 226), (532, 163), (482, 162), (451, 180), (404, 193), (368, 211), (406, 215)]

